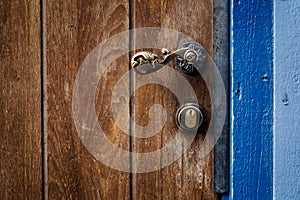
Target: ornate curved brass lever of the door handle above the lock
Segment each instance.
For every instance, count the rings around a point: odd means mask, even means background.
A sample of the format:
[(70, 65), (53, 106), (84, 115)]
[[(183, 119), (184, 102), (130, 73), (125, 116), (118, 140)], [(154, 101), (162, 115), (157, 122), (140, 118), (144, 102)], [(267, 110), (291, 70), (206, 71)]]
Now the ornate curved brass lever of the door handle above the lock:
[(194, 62), (197, 59), (197, 53), (192, 51), (193, 50), (189, 48), (180, 48), (170, 53), (169, 50), (162, 49), (163, 56), (158, 56), (147, 51), (141, 51), (132, 57), (131, 67), (138, 74), (150, 74), (161, 69), (176, 57), (182, 57), (189, 62)]

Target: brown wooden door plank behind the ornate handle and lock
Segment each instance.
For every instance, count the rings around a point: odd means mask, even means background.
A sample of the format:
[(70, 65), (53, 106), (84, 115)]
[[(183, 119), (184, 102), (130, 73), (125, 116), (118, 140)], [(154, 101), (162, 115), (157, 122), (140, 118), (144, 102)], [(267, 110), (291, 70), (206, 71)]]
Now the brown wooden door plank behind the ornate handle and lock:
[[(182, 32), (202, 44), (212, 55), (213, 18), (211, 0), (133, 1), (131, 7), (133, 8), (131, 13), (133, 17), (132, 28), (162, 27)], [(141, 41), (141, 38), (134, 37), (133, 41)], [(179, 43), (176, 40), (174, 42)], [(199, 104), (204, 107), (209, 120), (211, 104), (204, 81), (199, 76), (184, 76), (193, 86)], [(141, 77), (134, 76), (133, 80), (138, 78)], [(169, 76), (166, 81), (173, 81), (176, 85), (176, 77)], [(181, 86), (177, 84), (176, 87)], [(186, 100), (188, 102), (188, 97)], [(146, 153), (162, 148), (174, 137), (178, 130), (174, 120), (176, 109), (179, 106), (176, 97), (171, 91), (162, 86), (149, 84), (137, 89), (132, 102), (133, 116), (140, 126), (149, 124), (148, 110), (154, 104), (162, 105), (168, 116), (164, 128), (157, 135), (147, 139), (133, 138), (132, 150)], [(204, 136), (205, 130), (202, 130), (188, 151), (184, 152), (183, 156), (173, 164), (158, 171), (134, 174), (132, 198), (216, 199), (217, 196), (213, 192), (211, 178), (212, 153), (204, 159), (198, 157)], [(161, 157), (163, 156), (165, 155), (161, 155)]]

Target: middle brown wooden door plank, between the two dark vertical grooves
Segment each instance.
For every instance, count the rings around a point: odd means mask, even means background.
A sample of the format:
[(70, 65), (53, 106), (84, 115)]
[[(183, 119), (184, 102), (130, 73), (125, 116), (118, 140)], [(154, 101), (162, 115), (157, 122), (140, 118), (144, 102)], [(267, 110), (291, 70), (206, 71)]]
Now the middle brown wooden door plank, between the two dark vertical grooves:
[[(128, 30), (128, 13), (124, 0), (46, 2), (49, 199), (129, 199), (129, 174), (97, 161), (81, 143), (72, 118), (81, 63), (100, 42)], [(116, 130), (108, 108), (114, 83), (128, 70), (128, 56), (114, 64), (98, 84), (96, 110), (108, 138), (123, 138), (116, 145), (129, 151), (129, 136)]]

